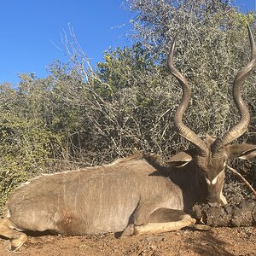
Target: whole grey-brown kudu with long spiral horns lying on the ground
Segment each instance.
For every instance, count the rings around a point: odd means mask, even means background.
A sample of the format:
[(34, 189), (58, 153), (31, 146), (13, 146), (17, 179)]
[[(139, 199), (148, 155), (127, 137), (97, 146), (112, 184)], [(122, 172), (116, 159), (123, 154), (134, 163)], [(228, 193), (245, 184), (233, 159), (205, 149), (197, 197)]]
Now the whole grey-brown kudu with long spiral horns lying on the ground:
[(84, 170), (42, 175), (22, 184), (10, 195), (0, 236), (13, 248), (27, 239), (23, 231), (50, 230), (66, 235), (123, 232), (123, 236), (160, 233), (193, 226), (185, 212), (195, 202), (226, 204), (222, 194), (228, 159), (255, 156), (256, 145), (231, 144), (249, 124), (249, 112), (240, 87), (256, 65), (256, 46), (248, 28), (251, 61), (237, 73), (233, 97), (241, 120), (223, 137), (202, 140), (183, 124), (189, 105), (187, 80), (173, 64), (176, 38), (168, 55), (168, 67), (183, 88), (183, 98), (174, 116), (178, 133), (195, 148), (178, 153), (169, 166), (160, 166), (140, 154)]

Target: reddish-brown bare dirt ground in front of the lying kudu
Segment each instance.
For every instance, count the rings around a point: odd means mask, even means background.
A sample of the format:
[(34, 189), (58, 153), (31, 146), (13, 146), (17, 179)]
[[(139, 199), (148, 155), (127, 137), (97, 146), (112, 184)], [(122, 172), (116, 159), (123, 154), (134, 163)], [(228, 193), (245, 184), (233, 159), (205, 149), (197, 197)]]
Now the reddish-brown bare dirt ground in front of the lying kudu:
[(214, 228), (211, 231), (179, 230), (159, 235), (117, 238), (98, 236), (30, 236), (17, 252), (0, 240), (1, 256), (172, 256), (256, 255), (256, 227)]

